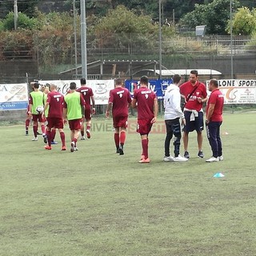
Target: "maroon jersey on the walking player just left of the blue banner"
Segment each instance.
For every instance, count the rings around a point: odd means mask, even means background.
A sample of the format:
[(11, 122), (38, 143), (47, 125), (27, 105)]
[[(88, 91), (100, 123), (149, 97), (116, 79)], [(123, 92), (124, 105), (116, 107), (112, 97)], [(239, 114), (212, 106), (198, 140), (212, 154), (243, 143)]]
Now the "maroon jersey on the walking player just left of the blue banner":
[(113, 117), (128, 116), (128, 105), (131, 102), (130, 91), (123, 87), (110, 90), (109, 102), (113, 103)]

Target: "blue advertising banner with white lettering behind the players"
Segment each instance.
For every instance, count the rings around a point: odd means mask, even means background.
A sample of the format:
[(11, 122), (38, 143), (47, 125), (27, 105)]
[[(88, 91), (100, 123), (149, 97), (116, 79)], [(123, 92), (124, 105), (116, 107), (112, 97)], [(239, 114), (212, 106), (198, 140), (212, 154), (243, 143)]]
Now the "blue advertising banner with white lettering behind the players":
[[(149, 80), (149, 88), (153, 90), (154, 93), (157, 95), (158, 99), (162, 99), (165, 95), (165, 91), (167, 86), (172, 84), (173, 81), (170, 80)], [(139, 80), (126, 80), (125, 82), (126, 88), (130, 91), (130, 95), (134, 96), (134, 89), (139, 88)]]

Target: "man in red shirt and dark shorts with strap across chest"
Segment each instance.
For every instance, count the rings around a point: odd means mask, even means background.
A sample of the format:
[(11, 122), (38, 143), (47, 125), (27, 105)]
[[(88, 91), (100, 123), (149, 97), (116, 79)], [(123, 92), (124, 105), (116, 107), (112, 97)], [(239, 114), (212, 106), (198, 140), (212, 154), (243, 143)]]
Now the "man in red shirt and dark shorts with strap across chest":
[(202, 103), (207, 101), (206, 85), (198, 81), (198, 70), (190, 71), (190, 81), (184, 82), (180, 87), (180, 93), (185, 98), (184, 116), (186, 126), (183, 131), (184, 157), (190, 158), (187, 150), (189, 133), (196, 130), (198, 133), (198, 157), (203, 158), (202, 153), (202, 130), (203, 112)]

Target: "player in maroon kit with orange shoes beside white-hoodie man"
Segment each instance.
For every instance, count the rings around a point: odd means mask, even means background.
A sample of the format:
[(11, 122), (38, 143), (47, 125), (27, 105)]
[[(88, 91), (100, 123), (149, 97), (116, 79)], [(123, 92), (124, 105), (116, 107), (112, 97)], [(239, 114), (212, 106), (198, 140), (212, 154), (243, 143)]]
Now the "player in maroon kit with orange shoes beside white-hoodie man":
[(147, 88), (149, 79), (142, 76), (140, 79), (140, 88), (134, 90), (134, 99), (131, 103), (132, 107), (137, 107), (138, 124), (137, 132), (142, 138), (142, 158), (139, 162), (150, 162), (148, 155), (149, 139), (151, 127), (157, 121), (158, 116), (158, 98), (153, 90)]

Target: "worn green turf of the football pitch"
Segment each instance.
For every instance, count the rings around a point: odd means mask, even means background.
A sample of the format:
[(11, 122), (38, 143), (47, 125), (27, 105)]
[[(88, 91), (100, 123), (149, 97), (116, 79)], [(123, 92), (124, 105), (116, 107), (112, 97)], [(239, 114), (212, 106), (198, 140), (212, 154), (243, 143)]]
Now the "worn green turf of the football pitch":
[(224, 118), (214, 163), (196, 157), (195, 133), (185, 163), (162, 162), (165, 134), (150, 134), (142, 165), (138, 134), (114, 154), (110, 120), (93, 120), (101, 129), (74, 153), (0, 127), (0, 255), (255, 255), (256, 113)]

